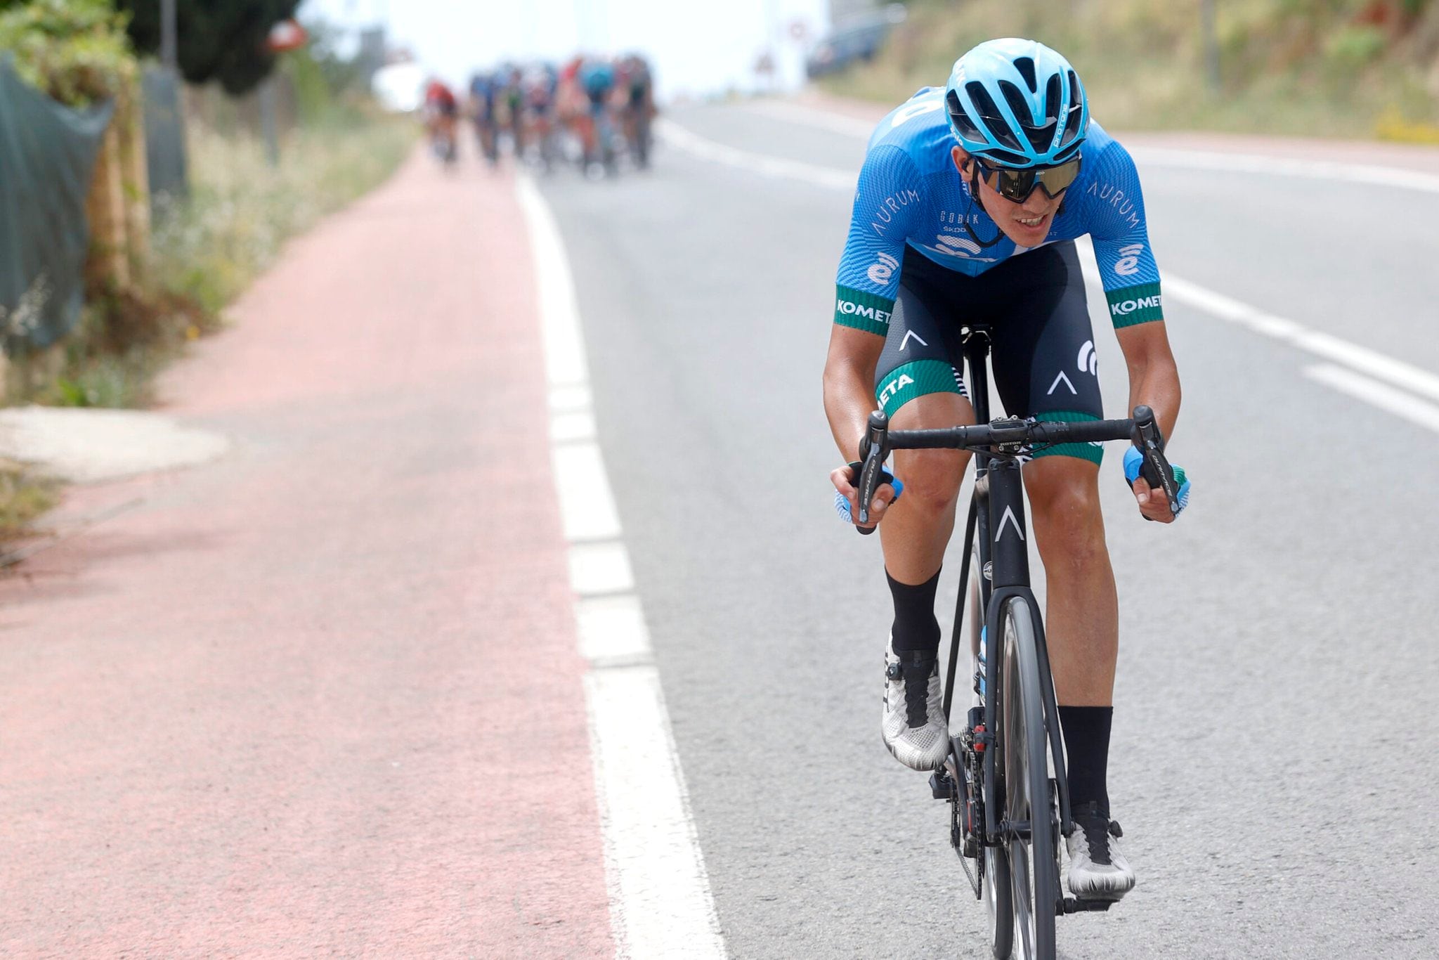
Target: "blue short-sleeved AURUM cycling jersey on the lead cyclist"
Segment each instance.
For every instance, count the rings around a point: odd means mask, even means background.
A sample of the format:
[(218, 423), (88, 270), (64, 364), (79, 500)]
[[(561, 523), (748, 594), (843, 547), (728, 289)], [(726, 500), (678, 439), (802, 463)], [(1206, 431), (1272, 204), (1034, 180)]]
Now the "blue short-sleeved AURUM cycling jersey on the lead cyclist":
[[(885, 117), (869, 137), (849, 239), (836, 278), (835, 322), (884, 335), (907, 253), (970, 276), (1035, 249), (1002, 236), (954, 167), (944, 88), (927, 86)], [(1150, 250), (1134, 160), (1091, 121), (1079, 177), (1065, 193), (1045, 243), (1088, 233), (1115, 327), (1164, 320), (1160, 272)]]

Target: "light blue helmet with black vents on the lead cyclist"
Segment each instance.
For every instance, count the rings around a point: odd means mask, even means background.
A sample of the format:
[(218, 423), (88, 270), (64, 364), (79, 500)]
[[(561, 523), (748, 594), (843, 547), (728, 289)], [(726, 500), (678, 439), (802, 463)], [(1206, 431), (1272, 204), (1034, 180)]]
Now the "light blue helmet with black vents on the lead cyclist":
[(960, 145), (999, 167), (1068, 163), (1089, 131), (1079, 75), (1038, 40), (980, 43), (954, 62), (944, 104)]

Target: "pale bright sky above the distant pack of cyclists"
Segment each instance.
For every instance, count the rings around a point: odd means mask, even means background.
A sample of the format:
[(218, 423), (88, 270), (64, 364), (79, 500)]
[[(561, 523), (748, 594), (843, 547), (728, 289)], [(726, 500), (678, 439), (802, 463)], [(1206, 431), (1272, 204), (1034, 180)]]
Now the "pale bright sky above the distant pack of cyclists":
[(661, 95), (750, 88), (768, 37), (791, 82), (803, 43), (827, 24), (827, 0), (307, 0), (301, 17), (344, 26), (386, 22), (391, 40), (453, 82), (507, 58), (560, 59), (576, 50), (646, 53)]

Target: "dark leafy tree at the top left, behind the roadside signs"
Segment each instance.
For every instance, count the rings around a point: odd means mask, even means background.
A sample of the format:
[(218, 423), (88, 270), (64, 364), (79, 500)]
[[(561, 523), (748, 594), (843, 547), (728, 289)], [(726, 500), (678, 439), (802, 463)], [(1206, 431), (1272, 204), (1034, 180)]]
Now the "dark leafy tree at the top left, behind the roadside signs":
[[(3, 0), (0, 0), (3, 1)], [(176, 0), (180, 72), (191, 83), (219, 81), (240, 95), (275, 69), (265, 49), (271, 27), (294, 16), (301, 0)], [(115, 0), (131, 16), (130, 39), (141, 53), (160, 52), (158, 0)]]

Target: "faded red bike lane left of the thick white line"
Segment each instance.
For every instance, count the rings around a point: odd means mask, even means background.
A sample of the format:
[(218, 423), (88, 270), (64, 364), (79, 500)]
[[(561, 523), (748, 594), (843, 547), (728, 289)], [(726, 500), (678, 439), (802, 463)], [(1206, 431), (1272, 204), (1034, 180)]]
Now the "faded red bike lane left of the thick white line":
[(0, 953), (613, 956), (524, 222), (423, 155), (0, 580)]

